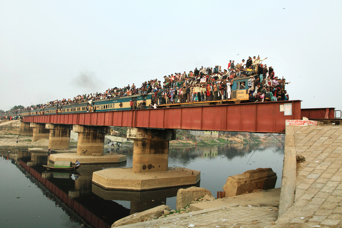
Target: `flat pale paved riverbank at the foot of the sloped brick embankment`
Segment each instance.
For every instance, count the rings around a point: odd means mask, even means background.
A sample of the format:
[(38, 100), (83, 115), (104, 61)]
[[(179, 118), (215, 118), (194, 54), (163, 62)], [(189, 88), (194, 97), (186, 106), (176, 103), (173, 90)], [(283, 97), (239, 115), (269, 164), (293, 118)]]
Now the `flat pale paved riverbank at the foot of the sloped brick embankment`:
[[(190, 213), (119, 227), (271, 227), (277, 220), (279, 197), (280, 188), (276, 188), (235, 197), (202, 201), (191, 204), (196, 207), (196, 210)], [(246, 216), (247, 214), (248, 216)], [(283, 227), (290, 227), (287, 225)]]

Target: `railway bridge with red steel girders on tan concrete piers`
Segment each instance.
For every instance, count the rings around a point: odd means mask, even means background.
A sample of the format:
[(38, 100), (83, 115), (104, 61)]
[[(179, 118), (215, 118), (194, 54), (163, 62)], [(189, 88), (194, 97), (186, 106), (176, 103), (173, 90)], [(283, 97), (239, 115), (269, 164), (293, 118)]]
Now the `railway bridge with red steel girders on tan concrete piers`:
[[(22, 123), (33, 128), (34, 141), (49, 138), (51, 149), (68, 149), (71, 129), (78, 132), (77, 154), (71, 161), (78, 159), (81, 163), (84, 157), (87, 161), (90, 158), (96, 161), (104, 155), (108, 126), (128, 127), (127, 137), (134, 140), (132, 168), (97, 171), (93, 174), (93, 183), (107, 189), (149, 190), (194, 185), (200, 180), (198, 171), (175, 171), (168, 167), (169, 141), (176, 138), (176, 129), (285, 133), (286, 120), (301, 120), (303, 115), (311, 119), (332, 119), (334, 108), (301, 109), (301, 100), (290, 100), (35, 115), (23, 117)], [(65, 154), (53, 157), (71, 159)]]

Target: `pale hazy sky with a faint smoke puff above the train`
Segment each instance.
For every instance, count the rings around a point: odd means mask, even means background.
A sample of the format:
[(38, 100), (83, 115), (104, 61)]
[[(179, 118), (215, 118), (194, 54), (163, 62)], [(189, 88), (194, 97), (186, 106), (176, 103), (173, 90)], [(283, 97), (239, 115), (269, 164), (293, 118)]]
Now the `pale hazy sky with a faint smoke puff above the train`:
[(315, 0), (0, 0), (0, 109), (260, 55), (302, 108), (342, 110), (341, 10)]

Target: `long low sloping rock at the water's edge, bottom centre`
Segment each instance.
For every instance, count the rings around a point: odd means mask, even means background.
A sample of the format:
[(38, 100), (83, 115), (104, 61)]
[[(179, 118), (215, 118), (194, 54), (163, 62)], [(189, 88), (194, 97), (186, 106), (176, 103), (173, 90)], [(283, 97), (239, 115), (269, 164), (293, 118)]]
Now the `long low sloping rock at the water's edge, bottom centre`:
[(167, 205), (160, 205), (154, 208), (151, 208), (147, 211), (143, 211), (140, 213), (136, 213), (134, 215), (129, 215), (127, 217), (121, 218), (117, 220), (111, 227), (123, 226), (128, 224), (139, 223), (142, 221), (147, 221), (151, 216), (160, 217), (163, 215), (164, 210), (171, 210), (171, 208)]

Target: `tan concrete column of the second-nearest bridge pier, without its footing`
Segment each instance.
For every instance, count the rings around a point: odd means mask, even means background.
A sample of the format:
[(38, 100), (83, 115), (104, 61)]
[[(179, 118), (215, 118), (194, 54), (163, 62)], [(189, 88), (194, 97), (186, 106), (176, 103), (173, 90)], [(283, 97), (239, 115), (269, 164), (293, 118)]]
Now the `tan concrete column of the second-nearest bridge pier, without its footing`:
[(78, 133), (77, 155), (103, 155), (106, 126), (73, 125), (73, 132)]

